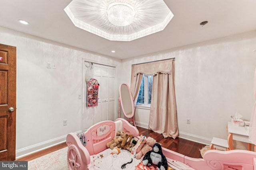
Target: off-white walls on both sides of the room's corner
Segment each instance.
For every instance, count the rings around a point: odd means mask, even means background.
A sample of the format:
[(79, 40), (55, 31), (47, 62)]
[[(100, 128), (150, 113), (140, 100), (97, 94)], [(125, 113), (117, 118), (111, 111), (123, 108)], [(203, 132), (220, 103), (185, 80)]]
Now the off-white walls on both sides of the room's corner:
[[(82, 59), (116, 65), (118, 85), (130, 84), (131, 64), (176, 58), (180, 137), (209, 143), (226, 137), (236, 111), (250, 119), (256, 31), (123, 60), (105, 57), (0, 27), (0, 43), (17, 47), (16, 156), (34, 152), (81, 131)], [(46, 68), (46, 62), (56, 69)], [(116, 108), (118, 109), (118, 108)], [(190, 125), (186, 118), (191, 119)], [(68, 120), (63, 126), (62, 121)], [(147, 127), (149, 110), (136, 110)]]

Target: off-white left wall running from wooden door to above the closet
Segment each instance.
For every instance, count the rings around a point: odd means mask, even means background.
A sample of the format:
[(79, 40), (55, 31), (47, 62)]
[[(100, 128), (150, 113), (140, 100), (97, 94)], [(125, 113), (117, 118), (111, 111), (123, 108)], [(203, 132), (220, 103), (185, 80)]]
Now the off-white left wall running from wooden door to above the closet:
[[(0, 43), (16, 46), (16, 157), (81, 131), (82, 59), (120, 65), (104, 57), (0, 27)], [(46, 63), (56, 69), (46, 68)], [(119, 67), (120, 68), (120, 67)], [(63, 120), (68, 125), (63, 126)]]

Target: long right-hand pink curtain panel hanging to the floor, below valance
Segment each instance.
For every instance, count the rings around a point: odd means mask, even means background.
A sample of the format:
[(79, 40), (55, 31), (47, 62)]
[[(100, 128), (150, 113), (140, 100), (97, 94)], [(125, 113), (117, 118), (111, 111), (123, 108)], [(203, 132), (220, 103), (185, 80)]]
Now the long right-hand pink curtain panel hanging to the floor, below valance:
[(166, 137), (179, 134), (175, 98), (175, 60), (170, 64), (170, 74), (158, 72), (153, 77), (149, 129)]

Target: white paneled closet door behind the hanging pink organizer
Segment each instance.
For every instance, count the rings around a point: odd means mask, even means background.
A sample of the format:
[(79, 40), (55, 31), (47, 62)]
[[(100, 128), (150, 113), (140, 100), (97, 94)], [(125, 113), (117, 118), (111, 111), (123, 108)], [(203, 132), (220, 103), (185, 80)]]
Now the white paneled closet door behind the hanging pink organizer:
[[(85, 62), (86, 63), (86, 62)], [(88, 65), (88, 63), (87, 63)], [(87, 85), (85, 81), (85, 72), (87, 67), (83, 66), (83, 109), (82, 109), (82, 131), (88, 129), (91, 125), (104, 120), (112, 120), (117, 115), (117, 93), (116, 86), (116, 68), (101, 64), (93, 64), (93, 77), (100, 84), (98, 90), (98, 106), (87, 107), (86, 93)]]

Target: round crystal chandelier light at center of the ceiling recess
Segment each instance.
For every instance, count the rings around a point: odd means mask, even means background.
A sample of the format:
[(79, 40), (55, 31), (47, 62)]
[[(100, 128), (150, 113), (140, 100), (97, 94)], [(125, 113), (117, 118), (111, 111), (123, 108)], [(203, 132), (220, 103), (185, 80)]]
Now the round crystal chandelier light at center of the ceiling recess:
[(108, 6), (108, 20), (116, 26), (127, 26), (133, 21), (134, 8), (126, 3), (112, 3)]

